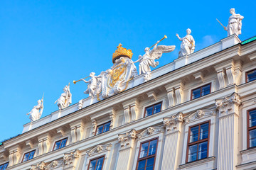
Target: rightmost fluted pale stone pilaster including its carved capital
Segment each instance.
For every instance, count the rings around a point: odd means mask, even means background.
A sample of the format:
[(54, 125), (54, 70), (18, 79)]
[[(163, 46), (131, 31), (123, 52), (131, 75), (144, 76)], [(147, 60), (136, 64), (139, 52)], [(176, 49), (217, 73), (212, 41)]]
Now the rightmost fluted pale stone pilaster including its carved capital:
[(219, 114), (218, 162), (217, 169), (233, 170), (238, 164), (238, 116), (240, 96), (216, 99)]

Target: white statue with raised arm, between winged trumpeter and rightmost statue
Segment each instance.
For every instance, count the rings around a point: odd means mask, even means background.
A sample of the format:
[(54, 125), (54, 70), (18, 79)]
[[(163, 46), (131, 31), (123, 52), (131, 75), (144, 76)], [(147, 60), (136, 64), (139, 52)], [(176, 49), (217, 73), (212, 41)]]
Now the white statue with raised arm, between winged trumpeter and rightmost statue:
[(191, 34), (191, 29), (186, 30), (187, 35), (183, 38), (180, 38), (178, 34), (176, 34), (178, 40), (181, 40), (181, 50), (178, 52), (178, 57), (182, 57), (184, 55), (190, 55), (195, 50), (195, 40), (193, 39)]

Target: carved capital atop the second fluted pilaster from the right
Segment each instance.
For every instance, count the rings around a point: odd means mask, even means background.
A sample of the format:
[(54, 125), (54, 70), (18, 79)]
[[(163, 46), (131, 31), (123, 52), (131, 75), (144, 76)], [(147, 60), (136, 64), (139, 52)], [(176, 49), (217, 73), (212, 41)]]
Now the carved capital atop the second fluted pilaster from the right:
[(166, 133), (176, 132), (177, 130), (180, 130), (181, 123), (183, 122), (183, 113), (179, 112), (176, 115), (163, 119)]

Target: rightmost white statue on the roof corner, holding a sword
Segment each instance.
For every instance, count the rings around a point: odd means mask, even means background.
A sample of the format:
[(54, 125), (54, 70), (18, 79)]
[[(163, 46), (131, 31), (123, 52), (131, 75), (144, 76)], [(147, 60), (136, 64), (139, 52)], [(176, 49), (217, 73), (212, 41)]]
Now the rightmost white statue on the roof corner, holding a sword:
[(244, 18), (240, 14), (235, 13), (235, 8), (230, 9), (230, 13), (232, 14), (230, 18), (228, 19), (228, 26), (225, 27), (225, 30), (228, 31), (229, 35), (239, 35), (241, 34), (242, 29), (242, 19)]

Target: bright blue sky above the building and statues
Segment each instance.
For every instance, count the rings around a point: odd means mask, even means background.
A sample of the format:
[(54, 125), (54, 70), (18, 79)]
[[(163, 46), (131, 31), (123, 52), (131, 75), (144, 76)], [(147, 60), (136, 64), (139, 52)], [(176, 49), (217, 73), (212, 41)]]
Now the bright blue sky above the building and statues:
[[(0, 141), (18, 135), (26, 115), (43, 92), (42, 117), (58, 110), (54, 101), (74, 79), (100, 74), (112, 66), (121, 42), (144, 54), (161, 44), (176, 45), (159, 66), (178, 57), (181, 37), (191, 28), (196, 51), (227, 36), (230, 8), (245, 18), (241, 40), (256, 35), (255, 1), (0, 1)], [(70, 84), (73, 103), (87, 95), (86, 84)]]

